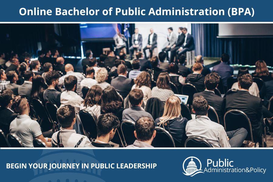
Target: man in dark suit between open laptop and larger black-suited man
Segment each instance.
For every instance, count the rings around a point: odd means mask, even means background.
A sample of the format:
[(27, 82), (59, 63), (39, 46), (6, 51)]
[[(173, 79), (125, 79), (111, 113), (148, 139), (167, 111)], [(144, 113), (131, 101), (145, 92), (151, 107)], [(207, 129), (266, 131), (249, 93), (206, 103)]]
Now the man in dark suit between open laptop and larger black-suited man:
[(205, 76), (206, 89), (203, 92), (195, 93), (194, 97), (196, 96), (205, 97), (205, 99), (207, 99), (208, 104), (216, 110), (217, 115), (219, 117), (220, 124), (224, 125), (224, 122), (223, 122), (224, 115), (222, 113), (224, 98), (217, 96), (214, 93), (214, 89), (218, 86), (219, 82), (220, 82), (220, 76), (217, 73), (212, 72), (206, 75)]

